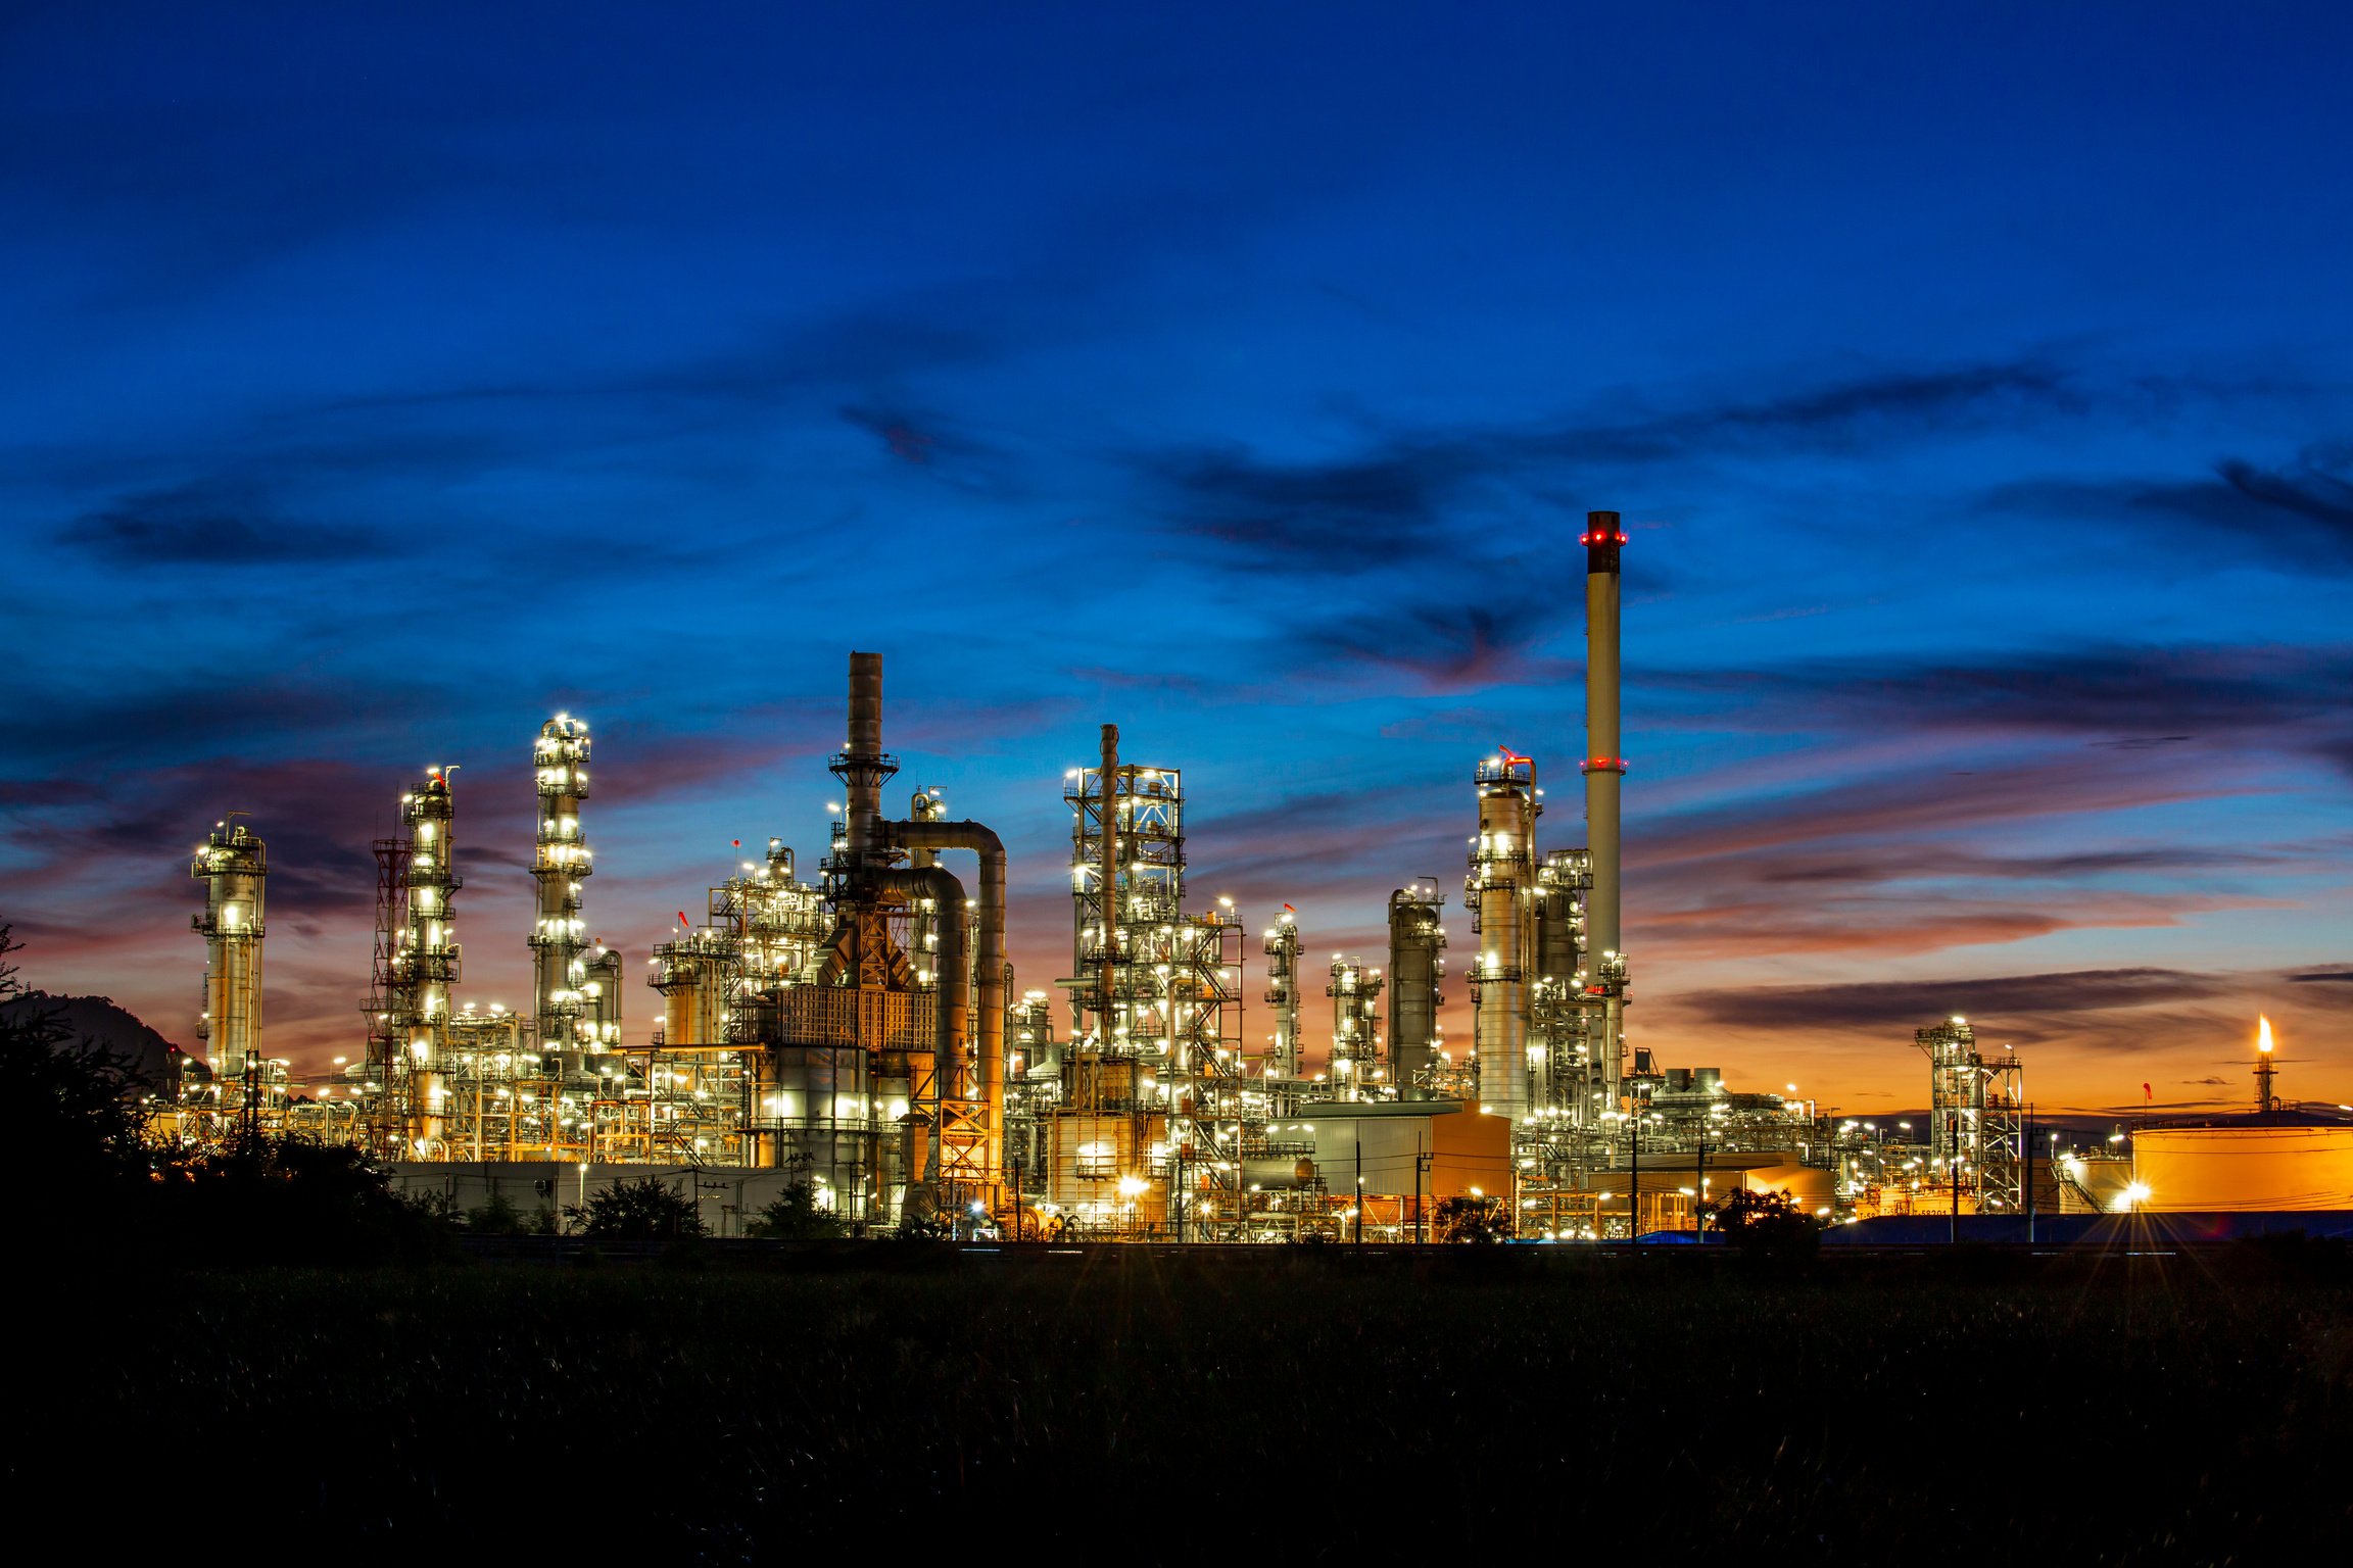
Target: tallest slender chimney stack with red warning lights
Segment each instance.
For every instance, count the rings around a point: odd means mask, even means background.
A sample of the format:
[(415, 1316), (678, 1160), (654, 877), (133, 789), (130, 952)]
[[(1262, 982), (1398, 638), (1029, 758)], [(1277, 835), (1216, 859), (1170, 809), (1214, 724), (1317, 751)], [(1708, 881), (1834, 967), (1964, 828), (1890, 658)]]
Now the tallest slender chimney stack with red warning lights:
[(1609, 1103), (1626, 1060), (1626, 947), (1619, 936), (1619, 548), (1617, 512), (1586, 512), (1586, 1039)]

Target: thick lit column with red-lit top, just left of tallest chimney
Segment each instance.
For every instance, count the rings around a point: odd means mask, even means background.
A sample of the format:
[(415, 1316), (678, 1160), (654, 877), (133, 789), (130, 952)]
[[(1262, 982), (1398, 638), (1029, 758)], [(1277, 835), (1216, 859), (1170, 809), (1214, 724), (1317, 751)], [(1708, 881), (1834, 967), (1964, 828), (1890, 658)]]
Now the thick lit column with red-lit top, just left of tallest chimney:
[[(1501, 750), (1501, 748), (1499, 748)], [(1527, 1100), (1529, 973), (1537, 961), (1537, 764), (1501, 750), (1473, 773), (1478, 837), (1471, 839), (1471, 969), (1478, 1098), (1520, 1124)]]

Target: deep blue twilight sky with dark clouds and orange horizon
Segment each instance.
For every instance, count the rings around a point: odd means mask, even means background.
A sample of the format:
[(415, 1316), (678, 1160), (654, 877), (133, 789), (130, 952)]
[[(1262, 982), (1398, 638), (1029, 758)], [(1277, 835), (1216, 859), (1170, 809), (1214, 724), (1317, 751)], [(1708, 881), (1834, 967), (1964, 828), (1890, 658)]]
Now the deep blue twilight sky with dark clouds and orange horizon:
[(193, 1044), (240, 809), (268, 1044), (353, 1053), (454, 762), (461, 994), (527, 1001), (555, 708), (635, 969), (729, 839), (824, 851), (861, 646), (1024, 985), (1111, 719), (1252, 929), (1372, 957), (1440, 875), (1464, 1034), (1471, 769), (1584, 839), (1617, 508), (1635, 1044), (1871, 1112), (1965, 1011), (2186, 1105), (2261, 1009), (2353, 1098), (2353, 12), (372, 12), (0, 9), (35, 985)]

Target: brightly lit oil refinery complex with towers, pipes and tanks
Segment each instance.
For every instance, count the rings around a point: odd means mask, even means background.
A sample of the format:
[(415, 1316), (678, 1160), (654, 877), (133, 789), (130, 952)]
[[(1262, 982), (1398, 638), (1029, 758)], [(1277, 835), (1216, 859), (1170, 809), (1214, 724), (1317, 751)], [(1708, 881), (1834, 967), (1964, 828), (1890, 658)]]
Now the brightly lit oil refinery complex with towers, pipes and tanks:
[[(1918, 1126), (1628, 1046), (1624, 543), (1617, 512), (1588, 515), (1581, 835), (1546, 844), (1558, 802), (1534, 757), (1497, 748), (1464, 778), (1473, 1023), (1457, 1046), (1440, 1030), (1447, 889), (1405, 879), (1369, 959), (1311, 954), (1289, 905), (1245, 931), (1226, 900), (1188, 893), (1181, 759), (1125, 757), (1113, 724), (1061, 778), (1068, 973), (1019, 983), (1002, 837), (951, 820), (939, 790), (889, 809), (882, 656), (849, 654), (824, 858), (805, 875), (769, 839), (642, 964), (591, 936), (588, 726), (560, 712), (539, 729), (527, 1009), (461, 997), (459, 769), (400, 788), (398, 832), (374, 844), (355, 1046), (318, 1093), (266, 1056), (268, 858), (224, 818), (191, 865), (209, 1060), (188, 1060), (155, 1126), (191, 1145), (351, 1143), (412, 1190), (551, 1218), (661, 1168), (718, 1234), (788, 1185), (856, 1234), (1155, 1241), (1426, 1241), (1466, 1211), (1520, 1239), (1605, 1241), (1694, 1232), (1737, 1192), (1824, 1222), (2353, 1206), (2353, 1126), (2278, 1103), (2268, 1056), (2249, 1117), (2146, 1128), (2134, 1168), (2129, 1150), (2038, 1135), (2019, 1058), (1981, 1048), (1967, 1018), (1915, 1034)], [(642, 1046), (621, 1034), (633, 992), (659, 1013)], [(1264, 1020), (1245, 1023), (1249, 1004)]]

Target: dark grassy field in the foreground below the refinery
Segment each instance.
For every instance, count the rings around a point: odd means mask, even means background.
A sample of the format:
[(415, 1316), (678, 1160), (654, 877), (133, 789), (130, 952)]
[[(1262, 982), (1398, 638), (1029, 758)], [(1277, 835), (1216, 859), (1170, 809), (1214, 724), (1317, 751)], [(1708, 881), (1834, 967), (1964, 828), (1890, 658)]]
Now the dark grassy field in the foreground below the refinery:
[[(2327, 1258), (80, 1276), (19, 1505), (468, 1561), (2341, 1561)], [(209, 1549), (205, 1552), (212, 1554)], [(1729, 1561), (1729, 1559), (1727, 1559)]]

